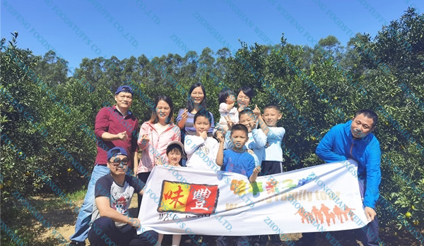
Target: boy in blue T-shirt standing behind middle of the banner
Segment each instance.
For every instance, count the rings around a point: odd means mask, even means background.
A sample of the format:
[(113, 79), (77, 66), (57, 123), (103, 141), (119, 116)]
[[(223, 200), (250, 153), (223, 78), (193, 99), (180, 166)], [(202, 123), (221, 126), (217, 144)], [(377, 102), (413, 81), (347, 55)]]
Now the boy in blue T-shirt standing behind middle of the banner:
[[(256, 181), (258, 173), (261, 171), (261, 166), (255, 167), (254, 158), (251, 154), (245, 152), (245, 144), (249, 138), (247, 137), (249, 131), (247, 127), (242, 124), (237, 124), (231, 128), (231, 142), (232, 149), (224, 150), (225, 139), (222, 134), (217, 133), (219, 140), (218, 155), (216, 156), (216, 164), (223, 167), (223, 171), (240, 173), (247, 178), (250, 182)], [(247, 236), (229, 237), (220, 236), (216, 240), (217, 246), (228, 246), (228, 238), (237, 240), (237, 245), (244, 245), (249, 242)]]

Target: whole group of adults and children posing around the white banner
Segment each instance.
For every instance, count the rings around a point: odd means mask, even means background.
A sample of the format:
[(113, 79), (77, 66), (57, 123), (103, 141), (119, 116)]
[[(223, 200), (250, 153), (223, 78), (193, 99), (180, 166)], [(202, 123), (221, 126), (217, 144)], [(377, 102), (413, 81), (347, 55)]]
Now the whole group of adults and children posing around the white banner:
[[(184, 109), (179, 109), (174, 123), (174, 105), (167, 96), (158, 96), (151, 118), (139, 130), (139, 121), (129, 108), (133, 92), (128, 85), (115, 92), (116, 105), (100, 109), (95, 119), (95, 135), (106, 144), (98, 144), (95, 166), (88, 191), (76, 221), (71, 245), (155, 245), (163, 235), (153, 230), (136, 234), (139, 219), (128, 214), (134, 192), (139, 194), (156, 165), (187, 166), (205, 170), (240, 173), (255, 182), (258, 176), (283, 172), (281, 142), (285, 129), (278, 127), (280, 108), (269, 104), (263, 112), (249, 107), (254, 91), (241, 87), (237, 92), (225, 88), (218, 95), (220, 118), (216, 123), (208, 111), (206, 90), (201, 83), (192, 85)], [(378, 245), (375, 202), (380, 181), (379, 142), (372, 131), (378, 117), (364, 109), (347, 123), (336, 125), (326, 133), (317, 147), (317, 155), (326, 162), (354, 159), (358, 162), (365, 214), (372, 221), (363, 230), (364, 245)], [(105, 147), (105, 145), (107, 147)], [(139, 160), (139, 150), (141, 159)], [(129, 168), (133, 166), (133, 169)], [(132, 173), (134, 171), (134, 173)], [(372, 230), (377, 238), (370, 238)], [(172, 236), (179, 245), (181, 235)], [(254, 236), (260, 245), (269, 238), (281, 244), (278, 235)], [(228, 245), (228, 237), (217, 238), (217, 245)], [(248, 240), (237, 238), (237, 244)], [(313, 233), (304, 233), (305, 245), (314, 245)]]

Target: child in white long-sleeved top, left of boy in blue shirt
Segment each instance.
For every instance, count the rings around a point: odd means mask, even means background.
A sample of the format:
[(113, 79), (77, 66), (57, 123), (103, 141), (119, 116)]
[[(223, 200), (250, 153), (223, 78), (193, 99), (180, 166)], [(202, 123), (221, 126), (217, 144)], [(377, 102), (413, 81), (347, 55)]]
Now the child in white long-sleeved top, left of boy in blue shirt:
[(184, 139), (184, 151), (187, 154), (187, 167), (213, 170), (219, 169), (216, 165), (218, 141), (208, 137), (211, 128), (211, 117), (206, 111), (199, 111), (194, 115), (194, 128), (196, 136), (187, 135)]

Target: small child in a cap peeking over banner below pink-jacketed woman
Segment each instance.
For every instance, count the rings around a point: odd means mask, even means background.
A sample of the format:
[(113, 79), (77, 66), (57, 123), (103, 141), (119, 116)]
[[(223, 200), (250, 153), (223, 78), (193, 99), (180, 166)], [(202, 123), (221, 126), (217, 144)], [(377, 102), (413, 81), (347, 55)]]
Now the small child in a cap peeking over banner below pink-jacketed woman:
[[(156, 164), (164, 166), (179, 166), (179, 160), (182, 158), (182, 143), (179, 141), (172, 141), (167, 144), (166, 147), (166, 156), (168, 161), (158, 158)], [(159, 233), (157, 245), (161, 245), (163, 240), (163, 234)], [(181, 242), (181, 235), (174, 234), (172, 235), (172, 246), (178, 246)]]

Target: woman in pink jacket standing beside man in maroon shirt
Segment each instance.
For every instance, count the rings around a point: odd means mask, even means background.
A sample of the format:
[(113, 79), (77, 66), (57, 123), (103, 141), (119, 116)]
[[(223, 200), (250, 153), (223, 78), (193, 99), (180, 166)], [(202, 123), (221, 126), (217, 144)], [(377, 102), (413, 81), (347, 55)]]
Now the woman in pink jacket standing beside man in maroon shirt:
[[(134, 173), (143, 183), (146, 183), (158, 158), (167, 161), (166, 147), (168, 142), (180, 141), (181, 132), (174, 124), (174, 105), (167, 96), (158, 96), (155, 99), (152, 116), (149, 121), (141, 125), (139, 140), (142, 150), (139, 166), (134, 165)], [(142, 196), (139, 195), (139, 209)]]

